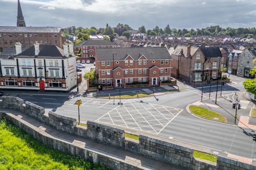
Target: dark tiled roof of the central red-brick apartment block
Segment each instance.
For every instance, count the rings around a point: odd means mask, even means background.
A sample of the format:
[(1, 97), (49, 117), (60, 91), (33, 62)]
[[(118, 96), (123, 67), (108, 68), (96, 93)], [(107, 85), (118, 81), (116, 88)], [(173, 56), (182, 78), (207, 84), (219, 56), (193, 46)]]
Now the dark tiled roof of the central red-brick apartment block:
[[(166, 47), (127, 47), (127, 48), (97, 48), (98, 61), (124, 60), (129, 54), (134, 60), (138, 60), (143, 54), (148, 60), (171, 59)], [(116, 53), (116, 55), (115, 55)]]

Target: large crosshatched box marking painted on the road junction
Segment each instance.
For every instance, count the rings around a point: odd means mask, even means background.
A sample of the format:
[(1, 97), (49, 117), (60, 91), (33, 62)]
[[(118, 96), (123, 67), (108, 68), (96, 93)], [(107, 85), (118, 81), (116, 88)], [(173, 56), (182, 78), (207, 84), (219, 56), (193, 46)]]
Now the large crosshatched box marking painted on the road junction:
[(127, 101), (96, 121), (159, 134), (181, 111), (157, 104)]

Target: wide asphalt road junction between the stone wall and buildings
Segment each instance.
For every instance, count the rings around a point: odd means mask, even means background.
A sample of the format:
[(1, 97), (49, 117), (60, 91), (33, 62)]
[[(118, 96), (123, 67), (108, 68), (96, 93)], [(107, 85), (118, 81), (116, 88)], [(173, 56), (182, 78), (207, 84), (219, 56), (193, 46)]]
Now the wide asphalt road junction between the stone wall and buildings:
[[(113, 104), (113, 100), (69, 96), (69, 94), (65, 93), (35, 94), (31, 92), (29, 94), (15, 91), (5, 91), (5, 93), (33, 102), (46, 108), (46, 111), (53, 110), (58, 114), (74, 118), (78, 117), (75, 101), (81, 99), (81, 120), (109, 122), (110, 125), (127, 126), (128, 128), (129, 125), (132, 125), (131, 128), (135, 130), (147, 129), (147, 132), (150, 132), (149, 128), (152, 128), (151, 132), (160, 136), (218, 149), (241, 157), (256, 159), (256, 149), (252, 141), (252, 134), (254, 132), (251, 129), (200, 119), (186, 111), (188, 104), (201, 100), (201, 90), (201, 87), (197, 89), (188, 88), (178, 93), (122, 100), (121, 102), (123, 102), (125, 107), (117, 105), (119, 100), (115, 100), (115, 104)], [(209, 90), (209, 87), (204, 87), (203, 99), (209, 97)], [(215, 98), (216, 93), (214, 91), (216, 91), (216, 86), (213, 86), (211, 91), (211, 97)], [(223, 92), (224, 94), (245, 92), (241, 81), (232, 85), (225, 85), (223, 91), (225, 91)], [(217, 102), (221, 102), (221, 98), (218, 97)], [(152, 108), (152, 106), (155, 106), (155, 108)], [(181, 112), (174, 113), (173, 110), (175, 109), (181, 110)], [(173, 117), (167, 117), (167, 115), (170, 116), (172, 113), (174, 113)], [(163, 121), (157, 122), (158, 116), (165, 115), (166, 117), (161, 119)], [(138, 118), (135, 116), (138, 116)], [(140, 122), (141, 124), (137, 123), (135, 125), (134, 119), (139, 118), (144, 120)], [(112, 120), (109, 121), (109, 119)], [(164, 122), (164, 120), (169, 121)]]

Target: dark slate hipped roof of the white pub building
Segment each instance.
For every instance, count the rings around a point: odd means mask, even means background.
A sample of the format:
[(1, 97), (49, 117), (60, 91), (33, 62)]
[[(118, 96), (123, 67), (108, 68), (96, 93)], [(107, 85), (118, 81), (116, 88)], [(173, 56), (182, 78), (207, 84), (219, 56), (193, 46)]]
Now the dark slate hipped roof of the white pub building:
[[(71, 55), (69, 55), (71, 56)], [(33, 45), (29, 49), (23, 51), (22, 53), (16, 55), (15, 57), (37, 57), (37, 58), (47, 58), (47, 57), (54, 57), (54, 58), (66, 58), (64, 56), (64, 50), (56, 45), (46, 45), (40, 44), (39, 45), (39, 54), (35, 56), (35, 46)]]

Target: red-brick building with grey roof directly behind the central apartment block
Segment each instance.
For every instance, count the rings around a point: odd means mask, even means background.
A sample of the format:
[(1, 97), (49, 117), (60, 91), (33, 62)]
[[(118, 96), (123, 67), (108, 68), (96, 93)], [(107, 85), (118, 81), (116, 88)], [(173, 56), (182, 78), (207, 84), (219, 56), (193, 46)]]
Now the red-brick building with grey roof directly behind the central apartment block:
[(117, 45), (109, 40), (89, 40), (81, 45), (82, 57), (94, 57), (96, 48), (114, 48)]

